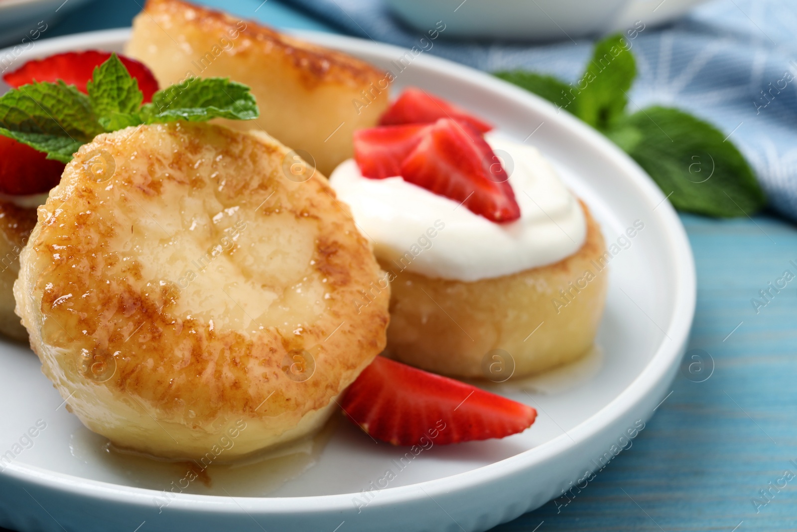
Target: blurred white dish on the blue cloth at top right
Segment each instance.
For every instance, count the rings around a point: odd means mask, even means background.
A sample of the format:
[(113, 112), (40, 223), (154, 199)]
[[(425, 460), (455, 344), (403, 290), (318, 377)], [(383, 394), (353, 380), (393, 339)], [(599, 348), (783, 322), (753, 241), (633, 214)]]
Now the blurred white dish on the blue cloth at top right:
[(385, 0), (416, 30), (446, 37), (549, 41), (669, 22), (705, 0)]

